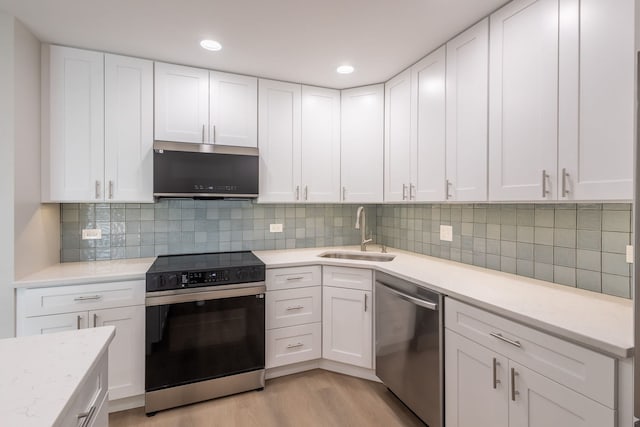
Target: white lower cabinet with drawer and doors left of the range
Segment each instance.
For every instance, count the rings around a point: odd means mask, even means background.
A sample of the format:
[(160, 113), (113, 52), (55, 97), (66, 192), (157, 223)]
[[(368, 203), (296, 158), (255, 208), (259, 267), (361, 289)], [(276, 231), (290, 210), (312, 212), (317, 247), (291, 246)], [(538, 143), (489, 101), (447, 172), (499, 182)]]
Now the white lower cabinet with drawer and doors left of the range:
[(116, 335), (109, 346), (108, 398), (141, 395), (144, 393), (144, 292), (144, 280), (19, 289), (17, 335), (113, 325)]

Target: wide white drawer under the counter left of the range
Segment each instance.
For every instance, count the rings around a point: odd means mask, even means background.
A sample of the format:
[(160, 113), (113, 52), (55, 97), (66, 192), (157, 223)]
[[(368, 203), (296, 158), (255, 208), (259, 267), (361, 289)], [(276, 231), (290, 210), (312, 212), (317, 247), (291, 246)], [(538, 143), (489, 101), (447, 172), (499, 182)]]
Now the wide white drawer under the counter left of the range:
[(18, 315), (24, 317), (143, 305), (144, 280), (20, 289)]

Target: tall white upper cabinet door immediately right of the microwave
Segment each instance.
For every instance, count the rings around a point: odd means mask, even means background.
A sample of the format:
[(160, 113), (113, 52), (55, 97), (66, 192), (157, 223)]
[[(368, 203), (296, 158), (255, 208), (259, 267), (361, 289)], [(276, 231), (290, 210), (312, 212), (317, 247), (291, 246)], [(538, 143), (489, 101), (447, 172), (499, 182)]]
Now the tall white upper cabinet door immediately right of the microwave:
[(261, 202), (300, 200), (300, 85), (259, 81)]

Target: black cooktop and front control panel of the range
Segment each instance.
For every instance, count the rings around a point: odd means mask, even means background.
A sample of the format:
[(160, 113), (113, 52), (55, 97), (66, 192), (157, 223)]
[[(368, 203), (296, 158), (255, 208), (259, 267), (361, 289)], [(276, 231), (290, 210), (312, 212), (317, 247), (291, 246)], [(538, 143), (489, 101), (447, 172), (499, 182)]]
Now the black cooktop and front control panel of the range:
[(262, 282), (265, 266), (249, 251), (162, 255), (147, 271), (147, 292)]

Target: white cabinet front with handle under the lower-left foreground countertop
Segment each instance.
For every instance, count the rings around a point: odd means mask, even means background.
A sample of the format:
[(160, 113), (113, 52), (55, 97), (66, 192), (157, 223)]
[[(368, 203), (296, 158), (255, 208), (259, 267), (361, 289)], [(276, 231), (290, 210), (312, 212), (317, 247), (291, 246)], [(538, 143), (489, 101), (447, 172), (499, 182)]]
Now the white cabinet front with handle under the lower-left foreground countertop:
[(86, 414), (90, 418), (87, 425), (106, 426), (104, 411), (100, 409), (107, 397), (107, 360), (105, 353), (71, 397), (68, 409), (60, 415), (60, 422), (56, 426), (84, 425), (82, 423), (86, 421), (86, 417), (79, 418), (80, 414)]

